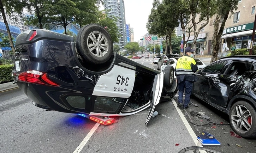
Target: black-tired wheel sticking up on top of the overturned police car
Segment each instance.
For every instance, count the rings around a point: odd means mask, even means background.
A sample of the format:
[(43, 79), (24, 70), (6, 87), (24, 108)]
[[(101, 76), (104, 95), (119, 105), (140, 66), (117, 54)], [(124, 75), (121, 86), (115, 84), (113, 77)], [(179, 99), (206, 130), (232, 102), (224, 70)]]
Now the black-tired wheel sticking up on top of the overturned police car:
[[(93, 35), (95, 36), (95, 38)], [(105, 39), (102, 39), (101, 42), (99, 42), (100, 35), (103, 35), (105, 37)], [(89, 47), (89, 45), (93, 46)], [(76, 39), (76, 48), (79, 55), (85, 61), (88, 61), (93, 64), (103, 64), (107, 62), (112, 56), (113, 42), (107, 30), (104, 29), (102, 26), (97, 24), (88, 24), (78, 31)], [(106, 48), (106, 50), (104, 48)], [(90, 51), (90, 49), (93, 50)], [(101, 53), (101, 55), (97, 54), (97, 50), (98, 53)]]

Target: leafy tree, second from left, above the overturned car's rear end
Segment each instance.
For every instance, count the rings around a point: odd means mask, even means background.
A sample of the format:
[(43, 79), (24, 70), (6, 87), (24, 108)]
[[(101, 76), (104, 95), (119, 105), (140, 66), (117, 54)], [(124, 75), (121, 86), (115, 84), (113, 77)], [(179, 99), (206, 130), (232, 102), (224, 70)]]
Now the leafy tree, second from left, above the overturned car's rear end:
[[(48, 25), (46, 16), (53, 10), (54, 1), (53, 0), (21, 0), (22, 4), (29, 11), (34, 10), (35, 16), (26, 17), (26, 25), (34, 25), (43, 29), (44, 26)], [(49, 27), (49, 26), (48, 26)]]

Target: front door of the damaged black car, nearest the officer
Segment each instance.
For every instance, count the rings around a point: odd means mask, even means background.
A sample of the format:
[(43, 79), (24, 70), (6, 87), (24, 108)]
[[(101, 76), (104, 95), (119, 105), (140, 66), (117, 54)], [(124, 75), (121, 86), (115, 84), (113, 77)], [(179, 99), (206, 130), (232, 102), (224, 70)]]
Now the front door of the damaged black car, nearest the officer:
[(193, 84), (193, 94), (208, 102), (214, 78), (224, 71), (224, 66), (227, 63), (228, 60), (216, 61), (203, 68), (200, 73), (195, 73), (198, 80)]

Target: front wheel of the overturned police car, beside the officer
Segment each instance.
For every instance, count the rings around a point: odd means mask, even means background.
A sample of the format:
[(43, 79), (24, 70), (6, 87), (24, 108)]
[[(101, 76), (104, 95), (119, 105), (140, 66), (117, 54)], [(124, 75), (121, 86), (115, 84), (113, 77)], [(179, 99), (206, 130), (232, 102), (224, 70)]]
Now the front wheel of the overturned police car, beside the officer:
[(171, 65), (167, 65), (164, 69), (163, 85), (164, 87), (171, 87), (174, 78), (174, 68)]

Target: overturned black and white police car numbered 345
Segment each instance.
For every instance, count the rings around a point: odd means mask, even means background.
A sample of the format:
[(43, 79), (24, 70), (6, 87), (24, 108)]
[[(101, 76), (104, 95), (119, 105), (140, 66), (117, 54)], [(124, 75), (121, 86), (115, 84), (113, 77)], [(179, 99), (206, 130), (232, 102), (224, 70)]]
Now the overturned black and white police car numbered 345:
[(109, 33), (97, 24), (82, 27), (76, 43), (61, 33), (28, 30), (18, 35), (15, 51), (14, 83), (46, 110), (126, 116), (151, 106), (147, 124), (162, 96), (176, 90), (162, 90), (170, 88), (171, 73), (113, 53)]

